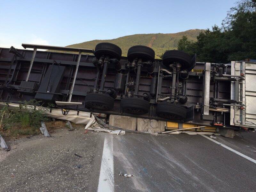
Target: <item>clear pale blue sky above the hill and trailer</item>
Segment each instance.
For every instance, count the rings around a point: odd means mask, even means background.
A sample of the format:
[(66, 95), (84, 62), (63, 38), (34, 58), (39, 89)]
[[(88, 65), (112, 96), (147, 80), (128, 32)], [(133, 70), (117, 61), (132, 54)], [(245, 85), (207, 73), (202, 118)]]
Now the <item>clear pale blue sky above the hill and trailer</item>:
[(236, 0), (0, 0), (0, 47), (66, 46), (220, 25)]

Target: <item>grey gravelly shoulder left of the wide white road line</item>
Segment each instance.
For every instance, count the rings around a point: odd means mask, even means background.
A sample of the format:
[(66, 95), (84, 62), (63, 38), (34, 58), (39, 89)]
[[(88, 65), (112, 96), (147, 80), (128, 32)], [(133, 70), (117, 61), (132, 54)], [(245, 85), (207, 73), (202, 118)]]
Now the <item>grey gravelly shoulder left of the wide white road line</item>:
[(97, 139), (81, 127), (8, 141), (11, 150), (0, 149), (0, 191), (90, 191)]

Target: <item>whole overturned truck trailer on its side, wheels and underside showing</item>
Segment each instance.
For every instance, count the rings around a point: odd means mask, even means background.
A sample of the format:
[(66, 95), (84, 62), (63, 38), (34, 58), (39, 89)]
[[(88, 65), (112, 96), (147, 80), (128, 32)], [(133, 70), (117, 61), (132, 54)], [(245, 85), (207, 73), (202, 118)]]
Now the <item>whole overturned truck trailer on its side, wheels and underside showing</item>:
[(36, 99), (78, 113), (255, 130), (256, 62), (202, 63), (177, 50), (158, 60), (153, 49), (142, 45), (131, 47), (127, 57), (110, 43), (94, 50), (22, 46), (34, 50), (0, 48), (1, 102)]

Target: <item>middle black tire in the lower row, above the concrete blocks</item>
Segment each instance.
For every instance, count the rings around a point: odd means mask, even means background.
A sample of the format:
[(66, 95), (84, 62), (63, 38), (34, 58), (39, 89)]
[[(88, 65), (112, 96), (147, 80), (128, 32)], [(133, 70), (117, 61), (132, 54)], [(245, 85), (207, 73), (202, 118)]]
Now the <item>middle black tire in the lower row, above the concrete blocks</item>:
[(145, 114), (149, 111), (149, 102), (135, 97), (127, 97), (121, 100), (120, 107), (124, 112), (130, 114)]

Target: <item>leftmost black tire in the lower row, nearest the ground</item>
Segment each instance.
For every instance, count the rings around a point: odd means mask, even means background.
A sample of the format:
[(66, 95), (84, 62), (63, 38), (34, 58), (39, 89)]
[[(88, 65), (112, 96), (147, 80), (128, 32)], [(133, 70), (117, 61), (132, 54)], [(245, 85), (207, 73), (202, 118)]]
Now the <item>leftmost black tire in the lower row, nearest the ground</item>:
[(110, 110), (114, 107), (114, 99), (108, 94), (89, 93), (85, 96), (84, 104), (87, 108)]

